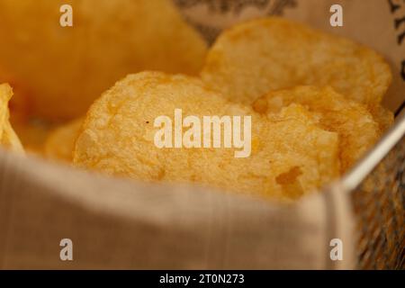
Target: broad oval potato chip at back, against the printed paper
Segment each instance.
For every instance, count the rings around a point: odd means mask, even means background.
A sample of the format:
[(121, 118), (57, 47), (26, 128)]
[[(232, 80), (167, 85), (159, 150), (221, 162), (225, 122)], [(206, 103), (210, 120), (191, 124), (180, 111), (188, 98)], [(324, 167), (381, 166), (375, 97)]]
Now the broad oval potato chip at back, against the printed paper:
[(208, 53), (202, 79), (240, 103), (296, 85), (329, 85), (371, 106), (381, 103), (392, 73), (372, 49), (270, 17), (222, 32)]

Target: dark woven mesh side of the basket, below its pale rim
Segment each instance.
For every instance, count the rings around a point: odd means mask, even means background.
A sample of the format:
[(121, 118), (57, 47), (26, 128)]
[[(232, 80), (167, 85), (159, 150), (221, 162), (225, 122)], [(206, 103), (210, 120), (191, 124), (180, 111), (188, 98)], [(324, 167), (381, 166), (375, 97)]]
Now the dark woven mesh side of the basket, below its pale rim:
[(405, 268), (405, 137), (352, 194), (356, 212), (357, 266)]

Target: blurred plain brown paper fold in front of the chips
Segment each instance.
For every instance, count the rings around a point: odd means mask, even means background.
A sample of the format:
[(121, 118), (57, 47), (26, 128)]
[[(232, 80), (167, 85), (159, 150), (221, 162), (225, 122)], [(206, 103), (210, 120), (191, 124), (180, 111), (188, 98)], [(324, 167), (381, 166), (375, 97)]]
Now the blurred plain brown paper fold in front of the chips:
[[(0, 153), (2, 268), (349, 268), (338, 187), (292, 207), (235, 193), (87, 175)], [(73, 261), (59, 241), (73, 241)], [(329, 241), (344, 243), (330, 261)]]

